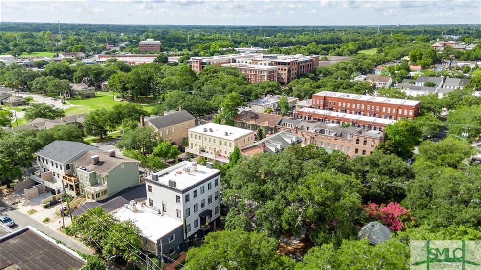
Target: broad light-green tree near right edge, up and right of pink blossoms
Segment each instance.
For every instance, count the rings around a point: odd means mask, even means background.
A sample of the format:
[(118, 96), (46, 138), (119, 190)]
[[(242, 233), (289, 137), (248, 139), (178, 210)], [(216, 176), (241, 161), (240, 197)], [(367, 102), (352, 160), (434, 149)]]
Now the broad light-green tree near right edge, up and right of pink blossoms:
[(462, 162), (475, 153), (476, 149), (466, 142), (451, 136), (434, 143), (424, 141), (419, 146), (418, 160), (434, 163), (436, 166), (458, 168)]

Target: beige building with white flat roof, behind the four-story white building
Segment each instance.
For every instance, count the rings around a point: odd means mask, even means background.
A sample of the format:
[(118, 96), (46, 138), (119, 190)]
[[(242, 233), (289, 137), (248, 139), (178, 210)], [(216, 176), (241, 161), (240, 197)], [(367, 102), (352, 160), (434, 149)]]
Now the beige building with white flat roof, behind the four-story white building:
[(207, 123), (189, 129), (189, 146), (185, 151), (227, 163), (234, 147), (242, 149), (253, 144), (255, 134), (239, 127)]

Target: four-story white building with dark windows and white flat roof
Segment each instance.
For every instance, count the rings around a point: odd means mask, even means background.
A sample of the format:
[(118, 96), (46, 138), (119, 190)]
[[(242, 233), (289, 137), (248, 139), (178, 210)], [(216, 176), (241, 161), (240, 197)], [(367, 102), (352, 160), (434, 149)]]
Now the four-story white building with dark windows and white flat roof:
[(146, 176), (145, 183), (149, 207), (182, 221), (189, 241), (219, 227), (220, 171), (212, 163), (183, 161)]

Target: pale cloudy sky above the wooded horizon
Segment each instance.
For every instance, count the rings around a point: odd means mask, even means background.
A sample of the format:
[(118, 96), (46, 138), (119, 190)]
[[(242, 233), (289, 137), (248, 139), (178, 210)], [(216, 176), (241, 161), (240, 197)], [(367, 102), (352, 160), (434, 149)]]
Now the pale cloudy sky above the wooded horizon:
[(1, 21), (153, 25), (481, 24), (481, 0), (1, 0)]

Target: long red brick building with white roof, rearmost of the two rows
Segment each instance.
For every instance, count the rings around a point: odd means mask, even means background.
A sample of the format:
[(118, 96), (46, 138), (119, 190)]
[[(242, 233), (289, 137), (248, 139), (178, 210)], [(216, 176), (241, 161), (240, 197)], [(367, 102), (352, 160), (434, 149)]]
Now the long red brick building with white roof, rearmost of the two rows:
[(393, 99), (368, 95), (322, 91), (312, 95), (312, 107), (329, 111), (386, 119), (413, 119), (421, 103), (415, 100)]

